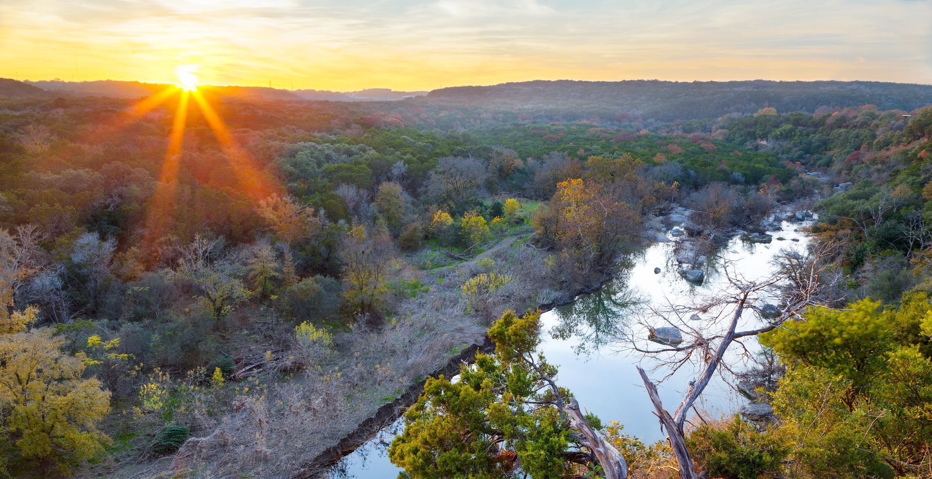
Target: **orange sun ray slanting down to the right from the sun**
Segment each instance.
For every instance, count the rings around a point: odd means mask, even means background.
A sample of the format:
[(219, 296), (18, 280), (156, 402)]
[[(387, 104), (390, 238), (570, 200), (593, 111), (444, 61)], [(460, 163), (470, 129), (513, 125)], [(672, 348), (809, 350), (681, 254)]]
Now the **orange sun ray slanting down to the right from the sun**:
[(267, 172), (262, 171), (249, 153), (243, 149), (230, 134), (223, 120), (217, 115), (207, 99), (199, 91), (191, 91), (200, 108), (201, 114), (207, 120), (207, 125), (213, 130), (217, 142), (224, 149), (230, 161), (233, 172), (240, 180), (242, 192), (254, 199), (266, 198), (274, 193), (281, 193), (278, 183)]

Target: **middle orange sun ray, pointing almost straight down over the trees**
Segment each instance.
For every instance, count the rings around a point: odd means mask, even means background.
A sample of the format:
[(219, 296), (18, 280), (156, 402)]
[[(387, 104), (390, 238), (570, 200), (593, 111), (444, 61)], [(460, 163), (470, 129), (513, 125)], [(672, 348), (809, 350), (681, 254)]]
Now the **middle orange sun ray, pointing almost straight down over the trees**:
[(178, 179), (178, 165), (181, 160), (181, 148), (185, 142), (185, 125), (187, 123), (187, 104), (190, 98), (188, 91), (182, 91), (178, 99), (178, 108), (175, 110), (174, 121), (171, 124), (169, 145), (165, 151), (165, 160), (158, 174), (158, 185), (149, 207), (146, 220), (146, 244), (160, 238), (167, 229), (171, 217), (171, 202), (174, 197), (176, 180)]

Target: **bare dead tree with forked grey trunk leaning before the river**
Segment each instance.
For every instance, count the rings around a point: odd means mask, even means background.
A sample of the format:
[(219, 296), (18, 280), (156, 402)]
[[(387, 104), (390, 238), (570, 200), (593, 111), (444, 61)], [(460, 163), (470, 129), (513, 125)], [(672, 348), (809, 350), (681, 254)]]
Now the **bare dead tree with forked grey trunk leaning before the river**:
[[(744, 340), (799, 318), (805, 308), (816, 304), (818, 291), (824, 286), (821, 278), (829, 268), (829, 265), (822, 261), (822, 257), (829, 248), (830, 246), (820, 246), (816, 251), (809, 253), (809, 258), (799, 262), (792, 274), (782, 271), (782, 275), (777, 273), (759, 281), (749, 281), (735, 274), (731, 265), (726, 263), (724, 273), (728, 286), (725, 291), (700, 298), (690, 306), (671, 305), (665, 309), (651, 309), (651, 314), (646, 315), (645, 320), (656, 322), (659, 318), (667, 324), (665, 329), (661, 330), (642, 322), (644, 329), (651, 332), (649, 339), (645, 340), (634, 330), (622, 338), (623, 349), (645, 354), (657, 362), (652, 370), (665, 368), (667, 374), (664, 379), (684, 367), (697, 367), (697, 376), (689, 382), (682, 401), (671, 414), (661, 402), (656, 384), (643, 368), (637, 366), (637, 371), (651, 397), (653, 414), (660, 419), (667, 433), (681, 479), (699, 479), (706, 476), (705, 472), (695, 472), (695, 463), (686, 446), (685, 424), (687, 416), (691, 410), (695, 410), (696, 401), (706, 390), (712, 377), (721, 374), (722, 369), (732, 371), (734, 362), (726, 361), (726, 353), (735, 349), (741, 356), (750, 357)], [(768, 305), (767, 301), (774, 300), (779, 301), (781, 306)], [(760, 313), (761, 320), (754, 326), (748, 326), (747, 320), (742, 322), (748, 309)], [(664, 334), (660, 334), (661, 332)], [(660, 343), (663, 347), (648, 346), (647, 341)]]

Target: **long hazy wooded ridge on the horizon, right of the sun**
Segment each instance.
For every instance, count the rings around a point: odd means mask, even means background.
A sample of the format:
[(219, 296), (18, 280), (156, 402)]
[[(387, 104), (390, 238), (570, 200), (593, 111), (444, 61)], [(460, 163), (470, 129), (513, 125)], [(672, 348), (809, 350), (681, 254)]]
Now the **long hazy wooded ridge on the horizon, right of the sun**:
[(912, 110), (932, 104), (932, 85), (869, 81), (535, 80), (489, 87), (434, 89), (426, 103), (489, 106), (582, 108), (632, 113), (658, 120), (754, 113), (765, 106), (777, 112), (814, 112), (820, 106), (875, 104), (881, 110)]

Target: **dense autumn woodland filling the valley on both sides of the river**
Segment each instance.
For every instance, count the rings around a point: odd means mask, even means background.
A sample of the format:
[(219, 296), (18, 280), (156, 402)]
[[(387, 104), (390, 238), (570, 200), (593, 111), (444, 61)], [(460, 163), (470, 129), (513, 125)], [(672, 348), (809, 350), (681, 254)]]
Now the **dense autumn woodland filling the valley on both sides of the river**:
[[(636, 478), (932, 476), (929, 87), (632, 85), (153, 105), (0, 84), (0, 472), (309, 476), (488, 335), (405, 416), (407, 477), (619, 477), (607, 450)], [(535, 311), (679, 205), (708, 254), (818, 214), (779, 284), (806, 299), (761, 331), (774, 414), (680, 423), (688, 454), (583, 415), (534, 353)]]

